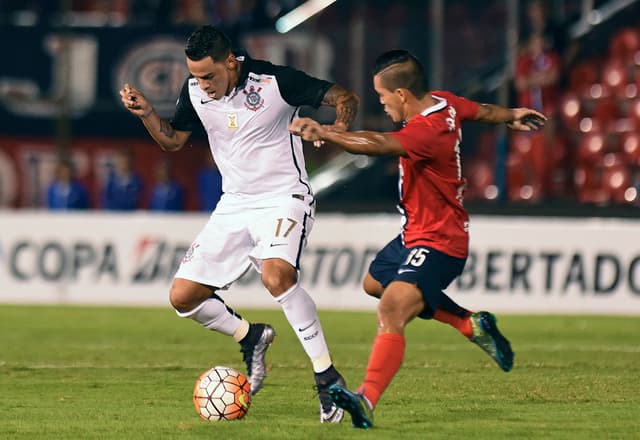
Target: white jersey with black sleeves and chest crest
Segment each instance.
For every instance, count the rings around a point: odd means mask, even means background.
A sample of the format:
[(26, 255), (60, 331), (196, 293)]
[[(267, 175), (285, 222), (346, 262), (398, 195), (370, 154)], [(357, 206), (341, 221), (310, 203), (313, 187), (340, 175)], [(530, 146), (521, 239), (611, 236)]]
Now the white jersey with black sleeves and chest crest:
[(238, 85), (220, 100), (187, 78), (172, 126), (183, 131), (193, 131), (198, 121), (204, 126), (222, 189), (233, 198), (312, 195), (302, 141), (288, 128), (299, 107), (319, 107), (332, 84), (290, 67), (238, 59)]

